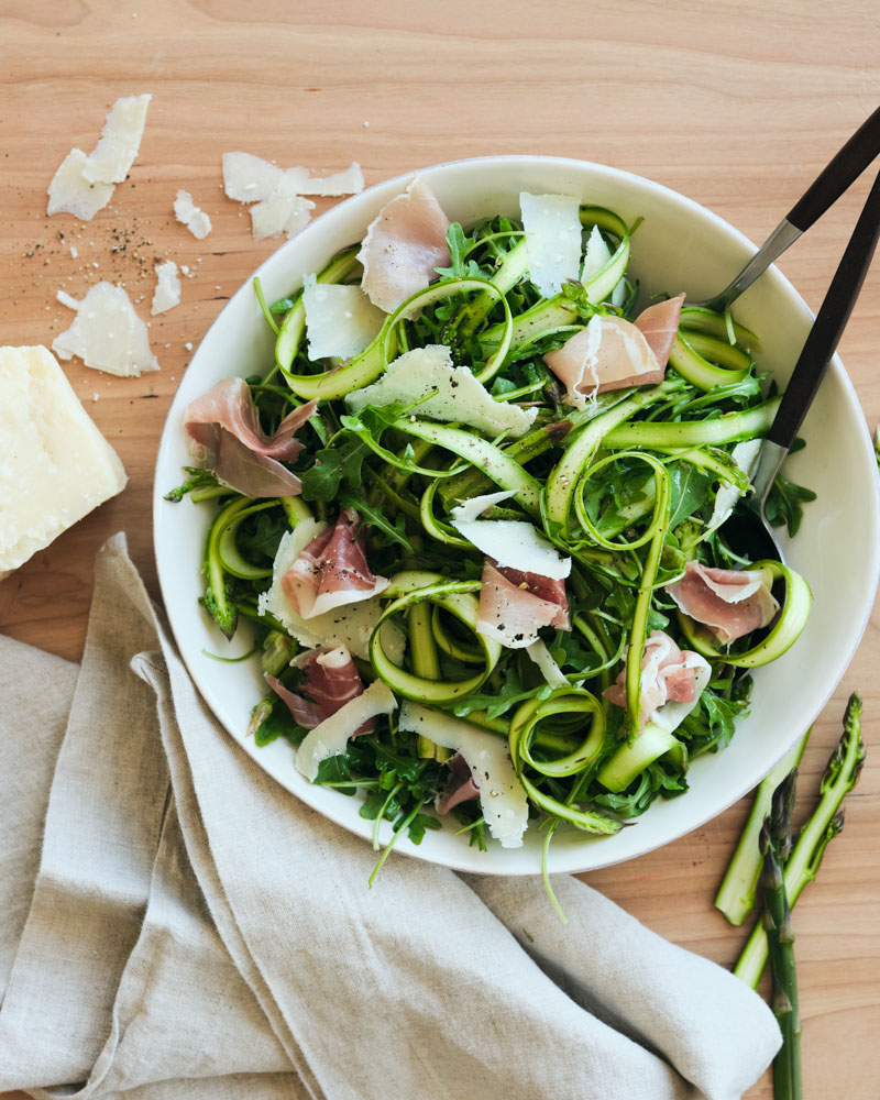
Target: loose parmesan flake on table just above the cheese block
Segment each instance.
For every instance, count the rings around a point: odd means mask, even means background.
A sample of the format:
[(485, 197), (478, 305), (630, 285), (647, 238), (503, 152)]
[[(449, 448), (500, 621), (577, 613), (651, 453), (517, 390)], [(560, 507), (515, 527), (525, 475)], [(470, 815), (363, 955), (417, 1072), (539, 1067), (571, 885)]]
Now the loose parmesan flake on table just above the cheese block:
[(98, 283), (77, 305), (74, 323), (52, 341), (62, 359), (78, 355), (86, 366), (120, 377), (157, 371), (146, 326), (121, 286)]

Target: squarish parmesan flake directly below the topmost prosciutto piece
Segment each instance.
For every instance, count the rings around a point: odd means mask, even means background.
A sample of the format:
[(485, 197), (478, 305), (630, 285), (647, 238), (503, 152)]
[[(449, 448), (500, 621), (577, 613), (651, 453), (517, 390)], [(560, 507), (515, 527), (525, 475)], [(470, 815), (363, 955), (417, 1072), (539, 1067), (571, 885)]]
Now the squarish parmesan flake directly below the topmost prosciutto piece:
[(309, 359), (351, 359), (362, 352), (385, 323), (385, 314), (374, 306), (360, 286), (302, 279), (302, 304)]

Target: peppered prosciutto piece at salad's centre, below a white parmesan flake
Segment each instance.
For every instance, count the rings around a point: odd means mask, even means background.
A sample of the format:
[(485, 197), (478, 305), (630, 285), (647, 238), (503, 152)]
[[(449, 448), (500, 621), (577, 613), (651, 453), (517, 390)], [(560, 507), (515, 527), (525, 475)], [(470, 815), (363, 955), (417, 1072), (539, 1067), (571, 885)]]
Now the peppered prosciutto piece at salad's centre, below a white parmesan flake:
[(538, 639), (538, 630), (554, 626), (570, 629), (564, 580), (524, 573), (486, 558), (480, 591), (476, 629), (508, 649), (525, 649)]

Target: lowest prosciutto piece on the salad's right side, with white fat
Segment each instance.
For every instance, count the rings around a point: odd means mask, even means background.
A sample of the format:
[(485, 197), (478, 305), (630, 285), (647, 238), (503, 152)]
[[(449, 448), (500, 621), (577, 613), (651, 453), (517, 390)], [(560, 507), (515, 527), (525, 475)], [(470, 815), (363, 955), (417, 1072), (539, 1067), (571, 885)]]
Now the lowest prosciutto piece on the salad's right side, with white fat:
[[(639, 729), (647, 722), (674, 729), (696, 705), (710, 673), (708, 663), (698, 653), (681, 650), (663, 630), (652, 630), (641, 654)], [(626, 661), (602, 695), (615, 706), (626, 706)]]

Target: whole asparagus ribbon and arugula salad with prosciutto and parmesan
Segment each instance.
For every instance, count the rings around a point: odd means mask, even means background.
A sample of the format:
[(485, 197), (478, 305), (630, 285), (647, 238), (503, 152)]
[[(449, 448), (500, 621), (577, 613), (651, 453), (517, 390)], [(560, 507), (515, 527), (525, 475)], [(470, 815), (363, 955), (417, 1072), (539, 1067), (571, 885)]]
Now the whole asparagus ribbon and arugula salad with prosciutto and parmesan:
[[(274, 364), (187, 409), (204, 464), (168, 499), (212, 502), (204, 606), (257, 626), (250, 733), (376, 846), (447, 817), (542, 831), (546, 866), (560, 828), (618, 832), (806, 622), (805, 581), (725, 539), (779, 404), (758, 338), (639, 308), (635, 228), (528, 195), (462, 227), (417, 178), (301, 289), (255, 283)], [(778, 479), (772, 521), (812, 495)]]

